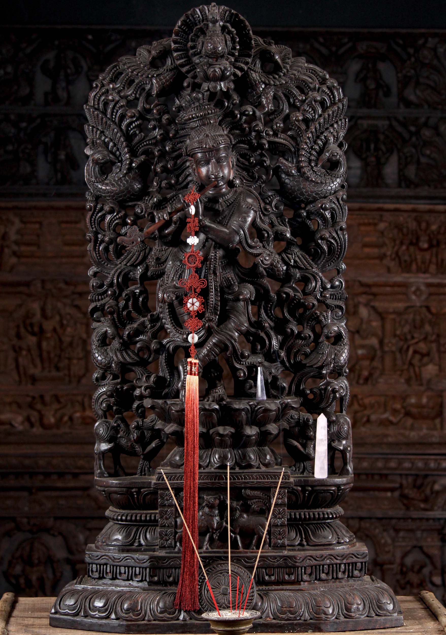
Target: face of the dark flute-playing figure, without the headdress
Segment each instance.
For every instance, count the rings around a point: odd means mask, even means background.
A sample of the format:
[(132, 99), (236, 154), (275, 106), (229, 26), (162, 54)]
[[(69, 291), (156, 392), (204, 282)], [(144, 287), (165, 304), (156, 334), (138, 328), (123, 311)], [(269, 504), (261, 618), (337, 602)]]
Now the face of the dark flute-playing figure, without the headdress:
[(199, 150), (192, 156), (192, 170), (199, 182), (210, 185), (213, 181), (217, 184), (209, 190), (209, 196), (219, 196), (228, 191), (228, 182), (234, 174), (234, 156), (228, 145), (218, 148)]

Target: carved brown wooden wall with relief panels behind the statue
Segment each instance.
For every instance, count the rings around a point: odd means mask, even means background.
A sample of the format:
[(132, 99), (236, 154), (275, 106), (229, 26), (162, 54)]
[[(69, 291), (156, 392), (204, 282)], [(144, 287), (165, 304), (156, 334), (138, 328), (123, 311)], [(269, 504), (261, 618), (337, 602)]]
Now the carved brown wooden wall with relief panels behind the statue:
[[(190, 0), (15, 2), (0, 37), (0, 582), (54, 595), (105, 519), (93, 488), (82, 104)], [(349, 98), (346, 278), (356, 485), (346, 523), (397, 593), (443, 596), (442, 3), (233, 2)]]

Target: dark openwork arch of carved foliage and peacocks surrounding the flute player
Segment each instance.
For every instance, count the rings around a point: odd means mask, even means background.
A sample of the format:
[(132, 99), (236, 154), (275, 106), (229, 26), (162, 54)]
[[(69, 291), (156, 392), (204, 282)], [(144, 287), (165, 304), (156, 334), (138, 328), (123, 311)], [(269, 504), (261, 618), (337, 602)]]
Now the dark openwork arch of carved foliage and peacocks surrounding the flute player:
[[(227, 355), (235, 394), (255, 394), (256, 368), (243, 361), (253, 354), (265, 360), (269, 398), (296, 396), (316, 414), (333, 413), (341, 399), (344, 412), (345, 109), (324, 70), (214, 4), (100, 75), (85, 108), (98, 418), (143, 418), (143, 398), (178, 397), (187, 333), (148, 292), (166, 274), (169, 248), (155, 240), (126, 250), (117, 238), (193, 184), (185, 140), (207, 123), (230, 135), (235, 186), (259, 201), (256, 237), (240, 237), (250, 264), (233, 267), (250, 297), (246, 342)], [(213, 311), (208, 333), (218, 303)]]

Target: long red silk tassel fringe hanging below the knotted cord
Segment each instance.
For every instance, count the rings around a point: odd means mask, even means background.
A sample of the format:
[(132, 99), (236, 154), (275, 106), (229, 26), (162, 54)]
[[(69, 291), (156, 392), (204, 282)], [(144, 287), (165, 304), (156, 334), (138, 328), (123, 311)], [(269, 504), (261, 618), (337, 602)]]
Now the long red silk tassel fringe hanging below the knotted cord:
[[(183, 516), (198, 548), (198, 450), (199, 450), (198, 360), (187, 360), (184, 442), (184, 504)], [(197, 611), (198, 561), (187, 531), (183, 530), (181, 571), (175, 608)]]

